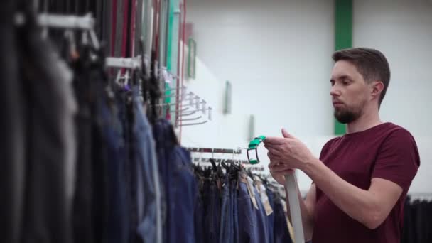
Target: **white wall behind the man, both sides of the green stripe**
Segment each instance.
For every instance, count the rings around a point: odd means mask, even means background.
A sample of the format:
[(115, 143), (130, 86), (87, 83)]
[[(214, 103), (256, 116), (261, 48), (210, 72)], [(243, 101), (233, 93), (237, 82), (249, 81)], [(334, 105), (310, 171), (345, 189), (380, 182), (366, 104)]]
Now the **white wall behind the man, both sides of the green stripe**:
[[(414, 134), (422, 164), (411, 191), (432, 193), (431, 5), (429, 0), (355, 1), (353, 45), (387, 55), (392, 81), (382, 119)], [(183, 144), (247, 146), (247, 118), (255, 114), (257, 135), (279, 136), (285, 126), (318, 156), (333, 134), (328, 79), (334, 1), (188, 0), (188, 21), (194, 23), (200, 61), (197, 78), (187, 84), (217, 112), (210, 124), (183, 128)], [(222, 114), (225, 80), (233, 86), (227, 116)], [(311, 180), (303, 174), (298, 180), (307, 190)]]

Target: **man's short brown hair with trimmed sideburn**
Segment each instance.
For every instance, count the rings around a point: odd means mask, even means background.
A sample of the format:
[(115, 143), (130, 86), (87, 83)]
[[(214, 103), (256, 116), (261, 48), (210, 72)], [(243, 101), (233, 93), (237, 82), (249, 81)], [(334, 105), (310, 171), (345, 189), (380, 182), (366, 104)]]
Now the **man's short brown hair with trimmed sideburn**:
[(378, 100), (378, 107), (381, 107), (382, 99), (384, 99), (390, 83), (390, 68), (387, 58), (379, 50), (371, 48), (338, 50), (333, 53), (332, 58), (335, 62), (338, 60), (350, 61), (366, 82), (381, 81), (384, 84), (384, 89)]

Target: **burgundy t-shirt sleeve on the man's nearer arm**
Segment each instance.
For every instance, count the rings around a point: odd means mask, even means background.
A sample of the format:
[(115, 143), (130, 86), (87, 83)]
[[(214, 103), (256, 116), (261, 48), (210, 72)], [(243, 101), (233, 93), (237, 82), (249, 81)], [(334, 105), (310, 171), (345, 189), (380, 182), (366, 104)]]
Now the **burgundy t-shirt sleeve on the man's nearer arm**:
[(372, 178), (390, 180), (408, 190), (419, 166), (416, 141), (409, 131), (399, 129), (390, 134), (379, 148)]

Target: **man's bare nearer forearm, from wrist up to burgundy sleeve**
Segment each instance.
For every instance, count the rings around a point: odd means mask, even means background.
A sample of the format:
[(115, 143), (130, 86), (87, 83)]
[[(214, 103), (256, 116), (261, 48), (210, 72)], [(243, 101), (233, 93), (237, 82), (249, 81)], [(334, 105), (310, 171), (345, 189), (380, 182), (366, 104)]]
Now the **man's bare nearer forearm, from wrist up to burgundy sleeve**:
[(312, 178), (340, 210), (369, 229), (376, 229), (384, 222), (402, 193), (399, 185), (381, 178), (372, 178), (368, 190), (357, 188), (317, 158), (304, 165), (302, 171)]

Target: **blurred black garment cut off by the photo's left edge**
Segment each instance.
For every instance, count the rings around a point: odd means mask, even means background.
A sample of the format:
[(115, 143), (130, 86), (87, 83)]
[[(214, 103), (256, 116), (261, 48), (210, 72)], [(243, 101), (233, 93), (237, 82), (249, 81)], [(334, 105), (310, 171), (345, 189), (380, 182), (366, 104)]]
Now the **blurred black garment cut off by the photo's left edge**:
[(18, 80), (17, 36), (13, 25), (16, 1), (2, 1), (0, 9), (0, 193), (8, 200), (0, 202), (0, 242), (18, 242), (21, 235), (23, 185), (26, 171), (24, 161), (24, 114), (21, 82)]

